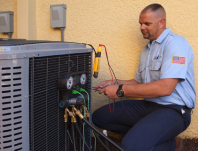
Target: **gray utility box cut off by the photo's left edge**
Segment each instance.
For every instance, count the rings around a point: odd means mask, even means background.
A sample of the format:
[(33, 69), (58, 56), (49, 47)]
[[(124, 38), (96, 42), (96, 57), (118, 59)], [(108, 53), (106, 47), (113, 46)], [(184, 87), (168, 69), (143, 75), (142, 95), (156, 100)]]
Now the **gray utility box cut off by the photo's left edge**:
[(0, 33), (13, 32), (13, 16), (12, 11), (0, 12)]

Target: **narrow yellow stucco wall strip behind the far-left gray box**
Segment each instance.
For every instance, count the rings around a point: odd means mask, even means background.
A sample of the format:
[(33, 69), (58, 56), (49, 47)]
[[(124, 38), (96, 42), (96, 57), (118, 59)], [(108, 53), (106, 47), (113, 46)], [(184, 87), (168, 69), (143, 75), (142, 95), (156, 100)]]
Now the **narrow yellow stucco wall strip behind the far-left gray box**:
[[(0, 11), (14, 12), (14, 33), (12, 38), (17, 38), (17, 0), (0, 0)], [(8, 34), (0, 33), (0, 38), (8, 37)]]

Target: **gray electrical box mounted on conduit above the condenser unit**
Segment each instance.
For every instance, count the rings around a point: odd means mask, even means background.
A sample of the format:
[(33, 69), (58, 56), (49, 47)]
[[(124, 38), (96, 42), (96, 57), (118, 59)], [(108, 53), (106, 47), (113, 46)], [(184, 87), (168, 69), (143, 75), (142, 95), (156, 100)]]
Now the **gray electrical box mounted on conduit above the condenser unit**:
[(50, 27), (66, 27), (66, 4), (50, 5)]

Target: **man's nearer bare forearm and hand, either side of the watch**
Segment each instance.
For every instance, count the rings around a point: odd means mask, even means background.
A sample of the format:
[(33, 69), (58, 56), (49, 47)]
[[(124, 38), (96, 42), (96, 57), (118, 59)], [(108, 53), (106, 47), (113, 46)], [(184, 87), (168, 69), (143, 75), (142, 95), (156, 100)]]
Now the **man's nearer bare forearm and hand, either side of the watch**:
[[(178, 81), (179, 79), (167, 78), (145, 84), (126, 84), (123, 85), (122, 88), (125, 96), (157, 98), (171, 95)], [(100, 90), (99, 93), (104, 93), (109, 98), (115, 99), (118, 98), (118, 96), (116, 95), (117, 89), (118, 85), (110, 85)]]

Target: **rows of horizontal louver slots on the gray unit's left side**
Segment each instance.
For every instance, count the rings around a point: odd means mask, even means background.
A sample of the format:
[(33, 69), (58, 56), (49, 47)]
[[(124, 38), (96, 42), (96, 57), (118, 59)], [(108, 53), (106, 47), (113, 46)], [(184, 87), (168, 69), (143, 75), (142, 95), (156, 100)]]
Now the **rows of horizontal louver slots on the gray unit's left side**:
[[(23, 121), (27, 118), (23, 115), (24, 101), (22, 90), (23, 61), (0, 61), (1, 80), (1, 105), (0, 105), (0, 150), (22, 150), (25, 134)], [(27, 97), (27, 96), (26, 96)], [(23, 142), (24, 141), (24, 142)]]

